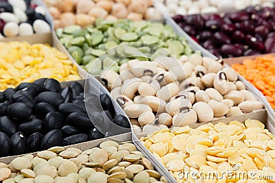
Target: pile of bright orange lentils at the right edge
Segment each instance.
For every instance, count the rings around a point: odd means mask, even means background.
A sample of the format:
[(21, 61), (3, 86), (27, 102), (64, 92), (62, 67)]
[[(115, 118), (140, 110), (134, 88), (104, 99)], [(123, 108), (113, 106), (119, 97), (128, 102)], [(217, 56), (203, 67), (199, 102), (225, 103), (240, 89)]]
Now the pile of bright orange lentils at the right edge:
[(274, 65), (274, 56), (259, 56), (252, 60), (243, 60), (242, 64), (233, 64), (232, 68), (258, 88), (275, 110)]

